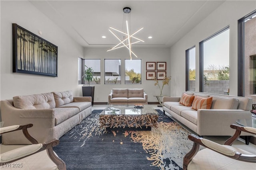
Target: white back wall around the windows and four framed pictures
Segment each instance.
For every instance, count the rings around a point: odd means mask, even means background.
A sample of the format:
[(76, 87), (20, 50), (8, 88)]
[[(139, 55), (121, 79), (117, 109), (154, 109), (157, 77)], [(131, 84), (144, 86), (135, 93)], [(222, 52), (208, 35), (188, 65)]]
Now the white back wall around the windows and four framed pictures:
[[(166, 62), (166, 74), (170, 75), (170, 48), (133, 48), (133, 52), (142, 59), (141, 81), (142, 84), (124, 84), (125, 59), (129, 58), (129, 52), (120, 48), (106, 52), (107, 48), (85, 48), (85, 59), (101, 59), (101, 80), (104, 80), (104, 59), (121, 59), (121, 84), (95, 84), (94, 102), (108, 102), (108, 94), (113, 88), (143, 88), (148, 94), (148, 102), (157, 102), (154, 95), (160, 95), (158, 86), (154, 86), (154, 80), (146, 80), (146, 62)], [(134, 59), (134, 58), (133, 58)], [(136, 58), (137, 59), (137, 58)], [(172, 80), (170, 80), (171, 82)], [(160, 85), (162, 81), (160, 81)], [(81, 85), (82, 86), (82, 85)], [(163, 95), (170, 95), (170, 84), (164, 86)]]

